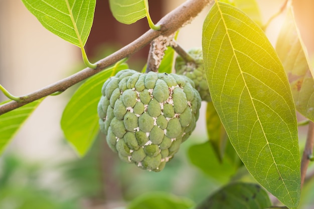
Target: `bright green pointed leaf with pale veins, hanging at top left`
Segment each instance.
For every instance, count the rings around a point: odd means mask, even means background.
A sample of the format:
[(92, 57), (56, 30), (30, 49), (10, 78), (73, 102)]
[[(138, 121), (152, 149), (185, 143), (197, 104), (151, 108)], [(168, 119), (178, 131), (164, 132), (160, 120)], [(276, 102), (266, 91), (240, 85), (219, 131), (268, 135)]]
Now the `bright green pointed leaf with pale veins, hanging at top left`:
[(89, 36), (96, 0), (22, 0), (26, 8), (50, 32), (83, 47)]

